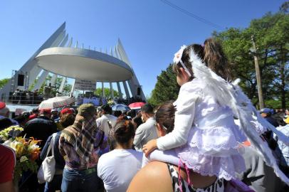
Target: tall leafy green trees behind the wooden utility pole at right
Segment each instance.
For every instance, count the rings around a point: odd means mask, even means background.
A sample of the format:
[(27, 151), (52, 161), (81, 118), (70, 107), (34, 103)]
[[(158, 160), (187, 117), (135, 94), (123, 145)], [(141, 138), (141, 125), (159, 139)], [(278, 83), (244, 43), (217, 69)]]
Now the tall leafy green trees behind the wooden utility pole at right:
[(288, 31), (289, 15), (279, 11), (253, 19), (248, 28), (228, 28), (213, 33), (222, 42), (228, 59), (233, 63), (234, 75), (241, 78), (241, 87), (254, 104), (258, 103), (258, 94), (253, 54), (249, 51), (252, 47), (251, 36), (254, 36), (258, 46), (265, 104), (285, 108), (289, 90)]

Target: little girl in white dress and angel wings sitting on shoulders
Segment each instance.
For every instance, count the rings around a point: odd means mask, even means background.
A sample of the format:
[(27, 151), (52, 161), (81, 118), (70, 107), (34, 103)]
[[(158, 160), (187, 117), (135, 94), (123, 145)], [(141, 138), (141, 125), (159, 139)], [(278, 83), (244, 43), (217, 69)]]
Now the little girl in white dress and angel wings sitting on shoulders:
[[(249, 139), (266, 163), (289, 183), (268, 145), (259, 137), (262, 126), (243, 101), (238, 103), (241, 101), (236, 94), (240, 89), (229, 83), (230, 67), (221, 45), (212, 38), (204, 46), (182, 46), (174, 55), (174, 71), (181, 86), (174, 102), (174, 130), (149, 141), (143, 147), (144, 154), (148, 156), (154, 149), (172, 149), (179, 166), (228, 181), (245, 170), (241, 143)], [(236, 119), (239, 125), (235, 124)]]

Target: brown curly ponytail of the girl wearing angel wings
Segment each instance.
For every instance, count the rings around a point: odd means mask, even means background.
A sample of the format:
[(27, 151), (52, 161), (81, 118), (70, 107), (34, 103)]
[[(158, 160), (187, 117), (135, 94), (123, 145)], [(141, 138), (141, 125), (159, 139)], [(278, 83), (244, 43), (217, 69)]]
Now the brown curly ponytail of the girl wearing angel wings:
[(228, 62), (221, 44), (213, 38), (204, 42), (204, 63), (224, 80), (232, 80), (231, 64)]

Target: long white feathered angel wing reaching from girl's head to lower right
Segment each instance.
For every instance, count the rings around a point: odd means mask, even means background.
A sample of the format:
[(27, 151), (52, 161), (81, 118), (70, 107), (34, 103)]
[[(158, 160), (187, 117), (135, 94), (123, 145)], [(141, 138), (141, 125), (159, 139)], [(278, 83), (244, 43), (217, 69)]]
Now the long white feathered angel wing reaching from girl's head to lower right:
[[(263, 142), (258, 132), (256, 132), (255, 125), (252, 123), (254, 122), (252, 114), (236, 100), (236, 90), (233, 86), (207, 68), (194, 53), (194, 50), (191, 50), (191, 63), (195, 78), (202, 80), (206, 85), (204, 93), (214, 95), (220, 105), (231, 108), (234, 116), (240, 120), (241, 131), (246, 134), (251, 144), (261, 153), (266, 164), (273, 167), (275, 174), (289, 185), (289, 179), (280, 171), (268, 144)], [(258, 114), (258, 112), (255, 113)]]

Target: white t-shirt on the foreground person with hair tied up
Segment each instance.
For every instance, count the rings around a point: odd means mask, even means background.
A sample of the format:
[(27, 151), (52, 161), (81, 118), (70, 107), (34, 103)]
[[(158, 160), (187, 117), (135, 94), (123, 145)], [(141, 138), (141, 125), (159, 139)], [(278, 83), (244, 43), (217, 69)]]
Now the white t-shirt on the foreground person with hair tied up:
[(115, 149), (98, 160), (98, 176), (107, 192), (127, 191), (130, 181), (141, 168), (142, 153), (133, 149)]

